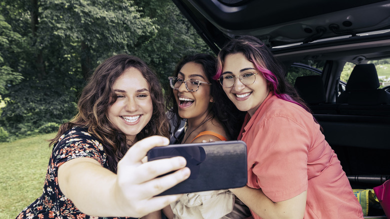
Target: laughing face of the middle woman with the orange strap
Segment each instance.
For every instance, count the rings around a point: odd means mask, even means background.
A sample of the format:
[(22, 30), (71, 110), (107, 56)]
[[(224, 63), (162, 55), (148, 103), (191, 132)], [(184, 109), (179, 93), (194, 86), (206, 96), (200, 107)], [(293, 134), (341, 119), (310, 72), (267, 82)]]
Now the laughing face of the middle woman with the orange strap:
[[(185, 63), (177, 74), (183, 80), (197, 79), (208, 81), (202, 65), (195, 62)], [(188, 81), (189, 82), (189, 81)], [(212, 101), (210, 95), (210, 85), (201, 83), (196, 92), (190, 92), (182, 83), (178, 89), (173, 89), (174, 98), (178, 106), (178, 114), (181, 118), (203, 119), (207, 114), (208, 105)]]

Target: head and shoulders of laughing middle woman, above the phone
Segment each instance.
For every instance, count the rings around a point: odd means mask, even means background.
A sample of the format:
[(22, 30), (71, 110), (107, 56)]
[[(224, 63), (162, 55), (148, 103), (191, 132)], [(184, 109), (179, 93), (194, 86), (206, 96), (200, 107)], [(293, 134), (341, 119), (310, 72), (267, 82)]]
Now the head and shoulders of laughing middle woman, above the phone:
[(229, 140), (238, 135), (237, 124), (243, 120), (243, 113), (226, 101), (227, 96), (212, 79), (215, 67), (216, 58), (212, 55), (186, 55), (177, 64), (174, 76), (169, 77), (172, 89), (166, 105), (173, 133), (182, 120), (186, 121), (179, 143)]

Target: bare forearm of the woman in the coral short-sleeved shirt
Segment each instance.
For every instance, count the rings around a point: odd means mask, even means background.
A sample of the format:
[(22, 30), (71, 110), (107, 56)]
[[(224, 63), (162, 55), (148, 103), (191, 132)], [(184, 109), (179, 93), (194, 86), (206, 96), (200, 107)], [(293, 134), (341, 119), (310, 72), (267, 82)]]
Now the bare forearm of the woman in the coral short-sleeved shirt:
[(306, 202), (305, 191), (288, 200), (273, 202), (261, 189), (245, 185), (230, 190), (261, 218), (303, 218)]

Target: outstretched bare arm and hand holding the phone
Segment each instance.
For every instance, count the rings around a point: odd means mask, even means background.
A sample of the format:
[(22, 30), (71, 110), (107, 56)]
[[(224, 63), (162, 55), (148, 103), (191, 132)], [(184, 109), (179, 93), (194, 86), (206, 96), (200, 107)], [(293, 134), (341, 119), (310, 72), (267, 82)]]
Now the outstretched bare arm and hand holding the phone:
[[(92, 158), (74, 158), (58, 167), (58, 185), (83, 213), (93, 216), (140, 217), (163, 208), (181, 195), (155, 196), (188, 178), (183, 157), (141, 159), (154, 146), (167, 145), (161, 136), (132, 145), (118, 162), (117, 174)], [(156, 176), (177, 170), (163, 177)]]

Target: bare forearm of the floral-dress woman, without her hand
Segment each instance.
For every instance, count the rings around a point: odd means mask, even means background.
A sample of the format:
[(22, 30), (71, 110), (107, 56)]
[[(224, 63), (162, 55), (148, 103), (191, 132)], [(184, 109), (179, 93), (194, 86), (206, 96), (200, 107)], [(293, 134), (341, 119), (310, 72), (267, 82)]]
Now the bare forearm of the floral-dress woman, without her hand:
[(91, 158), (76, 158), (62, 165), (58, 171), (59, 187), (81, 212), (95, 216), (128, 216), (117, 203), (116, 174)]

